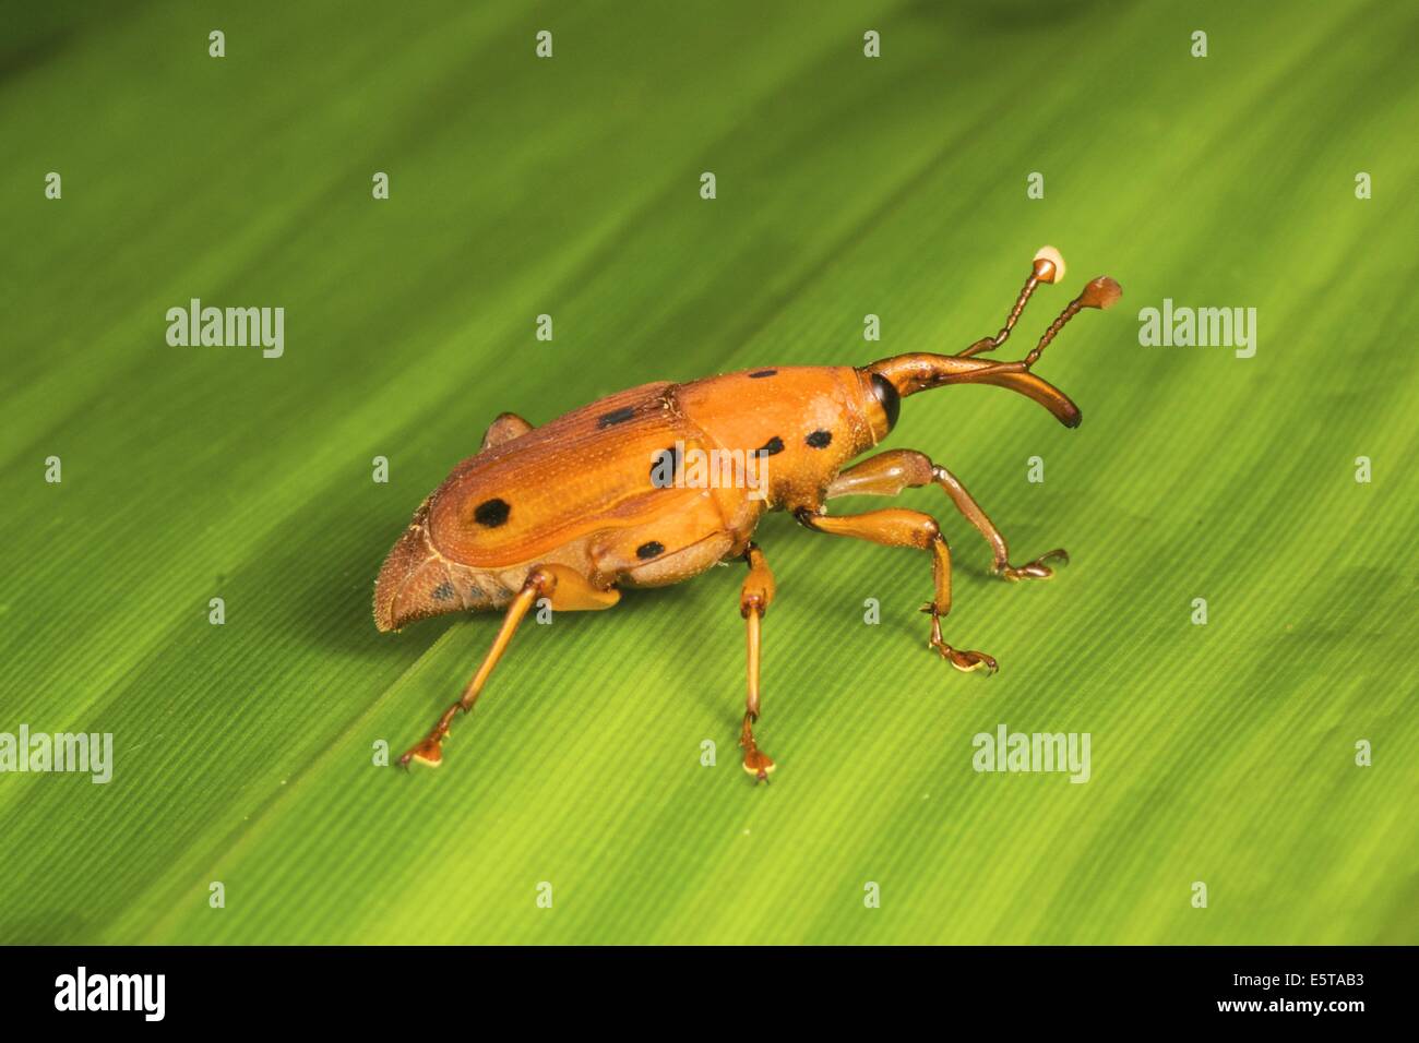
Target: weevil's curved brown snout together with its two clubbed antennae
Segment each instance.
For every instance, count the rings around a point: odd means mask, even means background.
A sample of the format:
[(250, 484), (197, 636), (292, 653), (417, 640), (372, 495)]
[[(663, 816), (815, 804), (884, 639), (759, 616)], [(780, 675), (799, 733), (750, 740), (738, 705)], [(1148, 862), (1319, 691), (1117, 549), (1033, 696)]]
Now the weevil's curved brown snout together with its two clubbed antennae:
[(1059, 318), (1044, 331), (1044, 336), (1030, 349), (1020, 362), (986, 362), (973, 359), (972, 355), (995, 351), (1015, 329), (1020, 312), (1034, 294), (1040, 282), (1057, 282), (1064, 275), (1064, 258), (1054, 247), (1042, 247), (1034, 254), (1030, 277), (1025, 281), (1010, 315), (1005, 321), (1000, 332), (995, 336), (976, 341), (958, 355), (935, 355), (931, 352), (914, 352), (911, 355), (897, 355), (890, 359), (866, 366), (863, 372), (880, 375), (891, 382), (893, 387), (902, 397), (931, 387), (946, 385), (986, 383), (998, 387), (1009, 387), (1013, 392), (1032, 399), (1053, 413), (1066, 427), (1077, 427), (1080, 421), (1078, 406), (1070, 402), (1059, 387), (1030, 372), (1044, 349), (1059, 335), (1064, 325), (1084, 308), (1110, 308), (1122, 297), (1120, 285), (1101, 275), (1084, 287), (1084, 291), (1069, 302)]

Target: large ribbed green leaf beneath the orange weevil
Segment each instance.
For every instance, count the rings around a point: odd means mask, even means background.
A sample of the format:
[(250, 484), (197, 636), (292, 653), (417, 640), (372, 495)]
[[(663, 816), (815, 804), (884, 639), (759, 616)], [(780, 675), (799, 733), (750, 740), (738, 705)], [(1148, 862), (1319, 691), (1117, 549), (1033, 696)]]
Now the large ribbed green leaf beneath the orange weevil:
[[(114, 776), (0, 773), (0, 939), (1419, 941), (1412, 11), (166, 3), (16, 23), (0, 732), (111, 732)], [(996, 677), (924, 647), (925, 555), (773, 515), (771, 786), (735, 748), (742, 566), (526, 624), (437, 772), (373, 763), (497, 630), (370, 617), (383, 555), (494, 416), (958, 351), (999, 328), (1042, 243), (1070, 272), (1012, 351), (1087, 278), (1124, 287), (1039, 363), (1083, 426), (952, 389), (910, 399), (888, 441), (951, 467), (1016, 563), (1071, 553), (1007, 585), (939, 492), (901, 497), (954, 546), (946, 639)], [(282, 307), (284, 353), (169, 346), (192, 298)], [(1254, 308), (1254, 356), (1142, 346), (1165, 298)], [(976, 772), (1002, 724), (1087, 732), (1088, 782)]]

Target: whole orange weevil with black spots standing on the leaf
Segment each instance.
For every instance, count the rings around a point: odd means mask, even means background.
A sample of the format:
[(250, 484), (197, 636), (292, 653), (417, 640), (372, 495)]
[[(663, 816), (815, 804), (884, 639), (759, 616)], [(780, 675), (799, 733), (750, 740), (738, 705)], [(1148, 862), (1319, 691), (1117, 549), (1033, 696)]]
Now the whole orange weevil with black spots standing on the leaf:
[[(748, 698), (739, 745), (744, 769), (766, 780), (773, 761), (759, 749), (759, 634), (773, 602), (773, 573), (752, 542), (768, 511), (789, 511), (807, 529), (925, 551), (932, 563), (928, 647), (961, 671), (995, 673), (983, 651), (948, 644), (941, 620), (951, 610), (951, 548), (937, 519), (890, 507), (833, 515), (827, 501), (846, 495), (895, 497), (939, 487), (993, 553), (993, 572), (1009, 580), (1049, 579), (1050, 551), (1012, 565), (1005, 536), (965, 485), (927, 454), (874, 448), (897, 423), (901, 400), (949, 385), (995, 385), (1037, 402), (1066, 427), (1078, 407), (1032, 368), (1060, 329), (1084, 308), (1108, 308), (1118, 284), (1095, 278), (1070, 301), (1033, 349), (1017, 362), (976, 358), (1005, 345), (1042, 282), (1057, 282), (1064, 260), (1053, 247), (1036, 253), (1005, 325), (955, 355), (914, 352), (867, 366), (768, 366), (688, 383), (646, 383), (593, 402), (541, 427), (502, 413), (477, 454), (458, 464), (414, 512), (375, 582), (375, 623), (382, 631), (448, 612), (504, 609), (502, 626), (463, 695), (429, 735), (400, 759), (437, 765), (460, 712), (473, 710), (518, 624), (538, 603), (553, 612), (610, 609), (622, 587), (653, 587), (742, 559), (748, 576), (739, 614), (748, 640)], [(756, 490), (745, 482), (664, 481), (684, 471), (684, 454), (735, 451), (766, 464)], [(671, 464), (673, 467), (667, 467)]]

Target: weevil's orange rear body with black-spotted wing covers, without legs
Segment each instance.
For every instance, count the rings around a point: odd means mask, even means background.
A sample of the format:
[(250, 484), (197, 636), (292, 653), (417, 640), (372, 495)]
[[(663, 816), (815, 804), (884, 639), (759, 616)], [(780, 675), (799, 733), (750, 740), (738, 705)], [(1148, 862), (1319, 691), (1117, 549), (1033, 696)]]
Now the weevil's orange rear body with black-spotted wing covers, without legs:
[(603, 586), (660, 585), (746, 542), (758, 514), (742, 509), (744, 490), (661, 484), (667, 454), (673, 474), (705, 448), (674, 390), (633, 387), (458, 464), (380, 569), (376, 624), (501, 607), (539, 563)]

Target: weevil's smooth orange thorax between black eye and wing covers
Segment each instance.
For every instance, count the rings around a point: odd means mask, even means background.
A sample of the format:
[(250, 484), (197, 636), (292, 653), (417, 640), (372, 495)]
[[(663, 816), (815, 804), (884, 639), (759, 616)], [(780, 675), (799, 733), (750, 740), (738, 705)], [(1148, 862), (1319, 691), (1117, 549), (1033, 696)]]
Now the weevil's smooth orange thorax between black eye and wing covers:
[[(742, 458), (753, 498), (790, 511), (817, 505), (847, 461), (888, 429), (871, 377), (850, 366), (725, 373), (675, 387), (675, 403), (725, 454), (711, 461), (719, 474)], [(685, 475), (695, 477), (688, 460)]]

